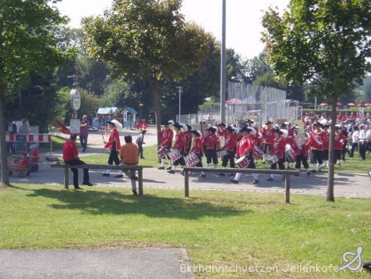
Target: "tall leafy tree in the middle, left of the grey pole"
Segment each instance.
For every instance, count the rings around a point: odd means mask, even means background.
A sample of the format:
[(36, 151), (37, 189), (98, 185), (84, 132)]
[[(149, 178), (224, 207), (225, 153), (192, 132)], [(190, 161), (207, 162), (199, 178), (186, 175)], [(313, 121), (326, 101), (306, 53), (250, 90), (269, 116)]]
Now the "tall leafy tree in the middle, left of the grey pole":
[(116, 73), (148, 82), (157, 130), (161, 128), (161, 82), (182, 80), (200, 66), (210, 51), (210, 36), (196, 24), (184, 22), (181, 3), (114, 0), (102, 17), (83, 21), (91, 56), (109, 61)]

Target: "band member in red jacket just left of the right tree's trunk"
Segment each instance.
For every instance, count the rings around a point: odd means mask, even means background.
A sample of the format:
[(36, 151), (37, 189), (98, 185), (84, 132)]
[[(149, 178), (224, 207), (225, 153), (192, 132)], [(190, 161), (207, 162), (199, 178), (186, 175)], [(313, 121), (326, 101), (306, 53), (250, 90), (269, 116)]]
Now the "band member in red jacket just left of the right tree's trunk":
[(324, 133), (321, 129), (321, 124), (313, 123), (312, 131), (309, 133), (309, 146), (311, 149), (311, 156), (313, 162), (312, 172), (317, 172), (318, 165), (319, 172), (322, 171), (323, 152), (324, 152)]

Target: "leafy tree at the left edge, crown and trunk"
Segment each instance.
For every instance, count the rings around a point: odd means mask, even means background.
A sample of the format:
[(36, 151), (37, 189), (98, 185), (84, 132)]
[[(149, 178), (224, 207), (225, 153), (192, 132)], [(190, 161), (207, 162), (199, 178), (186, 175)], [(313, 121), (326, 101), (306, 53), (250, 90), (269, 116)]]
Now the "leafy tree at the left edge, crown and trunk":
[[(29, 73), (45, 73), (68, 52), (58, 49), (52, 30), (66, 23), (47, 0), (0, 1), (0, 127), (5, 127), (4, 101)], [(9, 185), (5, 133), (0, 134), (1, 185)]]

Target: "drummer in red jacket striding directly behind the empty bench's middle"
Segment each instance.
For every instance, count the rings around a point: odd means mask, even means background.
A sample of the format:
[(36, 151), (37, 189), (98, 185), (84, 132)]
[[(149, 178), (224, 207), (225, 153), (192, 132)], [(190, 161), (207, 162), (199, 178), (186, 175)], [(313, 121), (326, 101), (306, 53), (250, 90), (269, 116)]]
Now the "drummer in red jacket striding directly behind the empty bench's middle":
[[(237, 157), (246, 156), (248, 160), (248, 169), (255, 169), (255, 163), (253, 158), (253, 149), (255, 144), (255, 135), (251, 135), (252, 128), (244, 127), (242, 128), (239, 133), (242, 134), (242, 139), (237, 143)], [(234, 179), (230, 181), (237, 184), (239, 179), (241, 178), (242, 174), (237, 172)], [(254, 180), (251, 184), (258, 184), (259, 177), (258, 174), (253, 174)]]

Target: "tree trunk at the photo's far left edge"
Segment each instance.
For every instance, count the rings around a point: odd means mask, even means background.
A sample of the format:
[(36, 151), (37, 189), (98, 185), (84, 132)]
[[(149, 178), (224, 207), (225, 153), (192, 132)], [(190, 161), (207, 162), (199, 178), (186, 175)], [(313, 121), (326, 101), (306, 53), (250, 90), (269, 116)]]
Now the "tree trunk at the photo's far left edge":
[(5, 109), (4, 109), (4, 86), (0, 82), (0, 128), (4, 131), (4, 133), (0, 133), (0, 156), (1, 156), (1, 186), (10, 186), (9, 181), (9, 172), (8, 172), (8, 158), (7, 158), (7, 151), (6, 151), (6, 142), (5, 142), (5, 129), (6, 129), (6, 121), (5, 121)]

